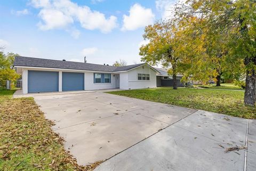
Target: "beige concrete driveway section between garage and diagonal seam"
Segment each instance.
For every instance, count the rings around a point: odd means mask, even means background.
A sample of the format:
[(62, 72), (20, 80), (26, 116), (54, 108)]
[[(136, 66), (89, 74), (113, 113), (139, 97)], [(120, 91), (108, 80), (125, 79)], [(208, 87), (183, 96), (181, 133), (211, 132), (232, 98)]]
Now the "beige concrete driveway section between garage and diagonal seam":
[(102, 92), (34, 99), (81, 165), (108, 159), (196, 111)]

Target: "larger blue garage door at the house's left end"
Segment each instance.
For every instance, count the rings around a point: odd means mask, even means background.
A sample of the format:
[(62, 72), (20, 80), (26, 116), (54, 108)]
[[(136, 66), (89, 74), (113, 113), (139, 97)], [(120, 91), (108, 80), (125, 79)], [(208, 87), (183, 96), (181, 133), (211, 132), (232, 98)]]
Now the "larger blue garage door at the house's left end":
[(58, 91), (59, 72), (28, 71), (28, 93)]

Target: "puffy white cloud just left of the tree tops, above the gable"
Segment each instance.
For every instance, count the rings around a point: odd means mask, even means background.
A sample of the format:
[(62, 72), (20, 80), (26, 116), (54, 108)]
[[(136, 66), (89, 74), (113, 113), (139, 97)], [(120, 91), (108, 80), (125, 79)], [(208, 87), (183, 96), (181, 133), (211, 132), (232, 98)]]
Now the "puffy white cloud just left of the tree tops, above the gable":
[(155, 15), (151, 9), (146, 9), (140, 4), (134, 4), (131, 6), (128, 15), (123, 15), (123, 27), (122, 30), (135, 30), (147, 25), (151, 25), (154, 22)]

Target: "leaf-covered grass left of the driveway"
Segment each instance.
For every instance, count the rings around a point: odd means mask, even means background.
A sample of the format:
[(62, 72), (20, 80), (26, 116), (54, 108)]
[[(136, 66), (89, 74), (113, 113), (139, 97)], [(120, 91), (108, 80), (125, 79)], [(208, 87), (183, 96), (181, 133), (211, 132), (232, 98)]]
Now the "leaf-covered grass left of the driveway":
[(4, 98), (0, 103), (0, 170), (93, 170), (79, 166), (63, 147), (33, 98)]

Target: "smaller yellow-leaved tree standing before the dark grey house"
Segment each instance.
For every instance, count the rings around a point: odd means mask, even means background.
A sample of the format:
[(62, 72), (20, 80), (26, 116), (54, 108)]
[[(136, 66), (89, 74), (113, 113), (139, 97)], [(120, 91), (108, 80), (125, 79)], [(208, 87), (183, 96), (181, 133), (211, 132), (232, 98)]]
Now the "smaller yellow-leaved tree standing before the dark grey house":
[(155, 66), (158, 63), (169, 68), (168, 73), (173, 76), (173, 89), (177, 89), (176, 76), (183, 56), (179, 53), (179, 29), (174, 21), (155, 22), (145, 28), (143, 38), (149, 43), (140, 47), (141, 61)]

